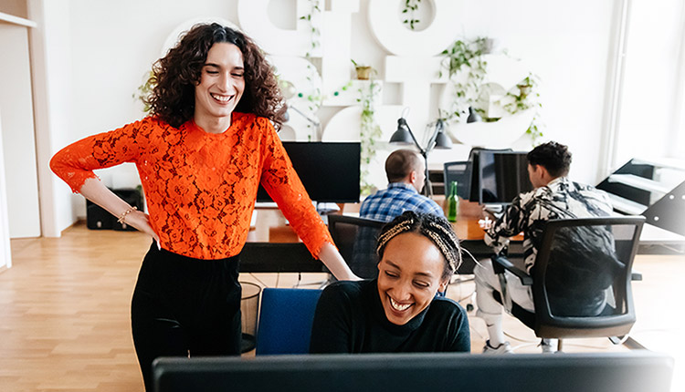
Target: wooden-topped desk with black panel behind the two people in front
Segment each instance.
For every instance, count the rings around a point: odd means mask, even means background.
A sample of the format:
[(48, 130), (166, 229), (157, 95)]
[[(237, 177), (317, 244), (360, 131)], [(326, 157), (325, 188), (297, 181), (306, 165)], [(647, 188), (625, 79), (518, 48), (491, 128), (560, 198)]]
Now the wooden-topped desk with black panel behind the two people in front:
[[(444, 197), (443, 197), (444, 200)], [(437, 197), (437, 202), (442, 200)], [(311, 257), (298, 235), (287, 224), (277, 208), (258, 209), (255, 225), (248, 233), (248, 242), (240, 257), (240, 271), (248, 273), (320, 273), (321, 262)], [(476, 258), (489, 257), (490, 247), (483, 242), (484, 232), (479, 227), (480, 206), (470, 201), (459, 201), (457, 222), (452, 223), (461, 246)], [(358, 214), (359, 204), (344, 204), (342, 213)], [(511, 253), (522, 253), (522, 236), (511, 242)], [(473, 273), (475, 263), (468, 254), (458, 273)]]

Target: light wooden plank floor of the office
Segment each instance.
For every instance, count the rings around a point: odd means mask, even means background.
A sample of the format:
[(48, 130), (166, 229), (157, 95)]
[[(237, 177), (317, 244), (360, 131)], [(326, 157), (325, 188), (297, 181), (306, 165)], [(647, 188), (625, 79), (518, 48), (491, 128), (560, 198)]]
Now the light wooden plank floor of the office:
[[(0, 272), (0, 391), (139, 391), (130, 302), (150, 241), (140, 232), (69, 228), (59, 239), (12, 240), (13, 267)], [(638, 324), (633, 336), (650, 349), (685, 360), (680, 282), (683, 255), (639, 255), (644, 281), (633, 284)], [(321, 274), (241, 275), (243, 282), (292, 286)], [(448, 296), (469, 303), (473, 283), (453, 284)], [(479, 352), (485, 325), (469, 313), (471, 344)], [(517, 353), (540, 352), (532, 332), (511, 317), (505, 331)], [(626, 350), (607, 339), (564, 342), (564, 351)], [(673, 390), (685, 390), (683, 377)]]

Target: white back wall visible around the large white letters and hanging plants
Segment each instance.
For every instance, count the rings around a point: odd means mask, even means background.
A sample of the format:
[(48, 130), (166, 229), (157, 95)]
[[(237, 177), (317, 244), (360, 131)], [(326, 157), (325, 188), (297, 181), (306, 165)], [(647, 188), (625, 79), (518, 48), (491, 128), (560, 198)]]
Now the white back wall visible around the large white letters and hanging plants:
[[(381, 70), (382, 80), (385, 57), (390, 53), (378, 44), (368, 26), (367, 9), (372, 1), (379, 0), (361, 0), (358, 12), (351, 17), (350, 53), (351, 57), (361, 58)], [(270, 8), (265, 18), (291, 19), (298, 15), (291, 10), (295, 0), (268, 3)], [(397, 0), (396, 10), (400, 9), (400, 3)], [(601, 139), (608, 97), (607, 77), (612, 69), (610, 54), (615, 45), (619, 3), (616, 0), (566, 3), (460, 0), (459, 12), (453, 15), (457, 31), (454, 38), (490, 36), (500, 47), (507, 48), (511, 56), (522, 58), (541, 77), (544, 139), (570, 146), (574, 152), (572, 177), (578, 181), (596, 183), (604, 176), (597, 168), (597, 161), (604, 153)], [(240, 25), (238, 0), (179, 1), (173, 5), (152, 0), (71, 0), (68, 4), (65, 23), (69, 27), (69, 39), (65, 44), (71, 51), (72, 99), (68, 121), (71, 127), (64, 134), (59, 130), (54, 139), (56, 149), (69, 141), (142, 117), (141, 105), (132, 94), (142, 84), (145, 71), (160, 57), (164, 40), (176, 26), (202, 16), (221, 17)], [(321, 5), (324, 4), (330, 6), (332, 0), (322, 1)], [(272, 22), (278, 26), (296, 25), (291, 20)], [(436, 91), (432, 92), (432, 101), (436, 100)], [(399, 83), (387, 83), (383, 103), (401, 105), (401, 94)], [(324, 127), (341, 109), (319, 110)], [(433, 113), (422, 115), (434, 116)], [(527, 150), (531, 143), (524, 137), (512, 147)], [(462, 159), (468, 150), (469, 146), (458, 146), (452, 154), (435, 151), (431, 162)], [(132, 168), (108, 170), (101, 176), (108, 184), (135, 181)], [(85, 215), (84, 204), (79, 203), (77, 215)]]

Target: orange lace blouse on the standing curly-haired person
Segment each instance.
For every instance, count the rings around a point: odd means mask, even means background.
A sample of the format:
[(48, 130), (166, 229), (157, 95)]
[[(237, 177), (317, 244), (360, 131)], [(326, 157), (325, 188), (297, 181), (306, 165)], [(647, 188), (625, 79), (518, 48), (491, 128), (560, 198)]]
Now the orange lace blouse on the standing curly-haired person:
[(233, 113), (224, 133), (193, 120), (145, 118), (60, 150), (50, 168), (79, 192), (94, 169), (135, 163), (150, 223), (167, 251), (216, 260), (240, 253), (259, 181), (314, 257), (332, 242), (268, 119)]

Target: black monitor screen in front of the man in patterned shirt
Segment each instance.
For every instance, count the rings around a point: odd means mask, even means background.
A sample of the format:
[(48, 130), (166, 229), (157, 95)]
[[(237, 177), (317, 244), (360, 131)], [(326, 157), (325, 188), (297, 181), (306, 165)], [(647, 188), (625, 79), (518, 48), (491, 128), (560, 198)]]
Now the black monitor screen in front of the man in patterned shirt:
[(479, 202), (508, 204), (519, 194), (532, 191), (527, 152), (479, 152)]

